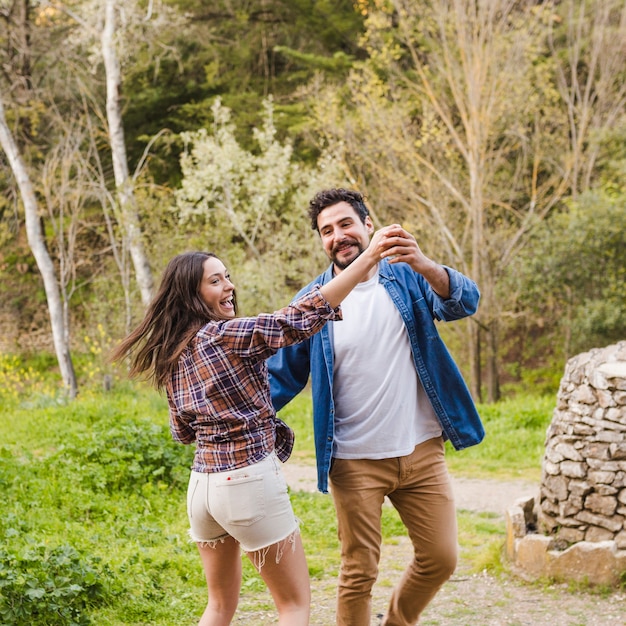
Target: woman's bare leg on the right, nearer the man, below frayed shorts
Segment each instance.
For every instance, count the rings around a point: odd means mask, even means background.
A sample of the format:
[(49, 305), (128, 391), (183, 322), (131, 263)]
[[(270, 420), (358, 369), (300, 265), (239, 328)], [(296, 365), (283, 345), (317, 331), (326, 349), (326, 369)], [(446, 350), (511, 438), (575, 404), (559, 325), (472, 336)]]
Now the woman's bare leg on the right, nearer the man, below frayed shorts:
[(269, 548), (250, 552), (248, 557), (257, 567), (261, 564), (259, 573), (278, 609), (278, 625), (308, 626), (311, 584), (300, 533), (296, 532)]

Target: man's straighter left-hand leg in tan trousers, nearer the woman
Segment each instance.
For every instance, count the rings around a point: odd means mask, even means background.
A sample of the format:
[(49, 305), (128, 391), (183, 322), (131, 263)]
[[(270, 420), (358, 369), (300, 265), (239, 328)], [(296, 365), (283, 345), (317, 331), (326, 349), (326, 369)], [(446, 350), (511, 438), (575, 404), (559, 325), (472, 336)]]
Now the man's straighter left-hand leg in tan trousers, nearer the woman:
[(397, 462), (393, 459), (333, 461), (330, 491), (341, 544), (338, 626), (370, 624), (371, 592), (380, 558), (382, 505), (396, 479)]

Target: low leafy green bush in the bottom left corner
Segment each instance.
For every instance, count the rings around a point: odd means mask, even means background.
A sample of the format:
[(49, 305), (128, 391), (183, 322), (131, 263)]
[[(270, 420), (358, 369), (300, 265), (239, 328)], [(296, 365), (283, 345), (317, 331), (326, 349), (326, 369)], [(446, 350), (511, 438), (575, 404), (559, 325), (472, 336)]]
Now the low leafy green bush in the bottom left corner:
[(0, 617), (13, 626), (86, 626), (86, 609), (107, 597), (106, 566), (71, 546), (0, 550)]

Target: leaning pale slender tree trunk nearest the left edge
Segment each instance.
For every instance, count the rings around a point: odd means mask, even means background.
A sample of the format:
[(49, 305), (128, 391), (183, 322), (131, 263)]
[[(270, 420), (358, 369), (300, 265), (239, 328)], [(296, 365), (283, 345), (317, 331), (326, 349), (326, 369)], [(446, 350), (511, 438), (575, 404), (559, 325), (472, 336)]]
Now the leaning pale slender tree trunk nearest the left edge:
[(63, 302), (57, 282), (54, 264), (41, 229), (39, 221), (37, 198), (33, 189), (30, 177), (24, 165), (24, 161), (19, 154), (17, 144), (6, 123), (4, 115), (4, 105), (0, 99), (0, 145), (6, 152), (11, 170), (17, 181), (22, 202), (24, 204), (24, 215), (26, 219), (26, 236), (28, 245), (35, 257), (35, 262), (43, 279), (50, 314), (50, 324), (52, 326), (52, 338), (54, 349), (59, 363), (59, 369), (63, 378), (63, 384), (68, 391), (70, 398), (75, 398), (78, 392), (76, 374), (72, 364), (72, 357), (69, 347), (69, 329), (64, 321)]

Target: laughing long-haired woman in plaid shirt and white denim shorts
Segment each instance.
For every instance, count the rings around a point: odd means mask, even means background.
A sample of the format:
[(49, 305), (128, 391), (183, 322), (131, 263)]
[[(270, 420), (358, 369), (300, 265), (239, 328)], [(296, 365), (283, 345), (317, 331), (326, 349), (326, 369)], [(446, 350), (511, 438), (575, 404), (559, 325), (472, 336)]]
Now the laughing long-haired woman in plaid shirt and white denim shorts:
[[(199, 626), (230, 624), (241, 586), (240, 546), (267, 584), (280, 626), (309, 623), (306, 558), (280, 462), (294, 435), (276, 417), (265, 360), (331, 319), (384, 252), (397, 226), (327, 284), (272, 314), (236, 318), (235, 287), (213, 254), (189, 252), (168, 264), (141, 324), (117, 347), (130, 375), (165, 388), (172, 436), (196, 444), (187, 494), (190, 535), (208, 586)], [(349, 244), (349, 242), (346, 242)]]

